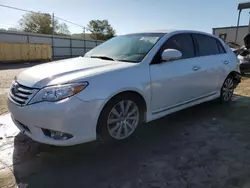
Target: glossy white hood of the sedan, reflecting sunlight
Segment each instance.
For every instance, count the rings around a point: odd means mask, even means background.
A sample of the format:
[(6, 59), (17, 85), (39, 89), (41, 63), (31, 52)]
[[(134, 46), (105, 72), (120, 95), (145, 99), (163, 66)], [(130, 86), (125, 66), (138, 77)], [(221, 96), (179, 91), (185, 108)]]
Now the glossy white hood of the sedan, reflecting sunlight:
[(16, 77), (16, 81), (27, 87), (42, 88), (78, 81), (89, 76), (134, 65), (135, 63), (78, 57), (28, 68)]

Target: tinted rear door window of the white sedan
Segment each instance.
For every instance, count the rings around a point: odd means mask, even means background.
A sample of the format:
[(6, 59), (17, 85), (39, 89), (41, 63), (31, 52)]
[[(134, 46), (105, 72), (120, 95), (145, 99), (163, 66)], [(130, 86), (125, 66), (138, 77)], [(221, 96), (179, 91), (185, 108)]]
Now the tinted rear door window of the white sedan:
[(220, 49), (215, 38), (201, 34), (195, 34), (194, 36), (198, 44), (199, 56), (208, 56), (220, 53)]

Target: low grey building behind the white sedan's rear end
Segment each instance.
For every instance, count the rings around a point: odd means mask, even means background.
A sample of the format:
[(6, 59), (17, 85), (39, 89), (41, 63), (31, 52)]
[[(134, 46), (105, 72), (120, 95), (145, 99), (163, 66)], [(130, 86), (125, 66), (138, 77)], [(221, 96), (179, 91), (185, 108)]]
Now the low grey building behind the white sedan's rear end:
[[(223, 39), (225, 42), (235, 43), (236, 26), (213, 28), (213, 34)], [(239, 26), (236, 44), (244, 45), (244, 37), (248, 34), (248, 25)]]

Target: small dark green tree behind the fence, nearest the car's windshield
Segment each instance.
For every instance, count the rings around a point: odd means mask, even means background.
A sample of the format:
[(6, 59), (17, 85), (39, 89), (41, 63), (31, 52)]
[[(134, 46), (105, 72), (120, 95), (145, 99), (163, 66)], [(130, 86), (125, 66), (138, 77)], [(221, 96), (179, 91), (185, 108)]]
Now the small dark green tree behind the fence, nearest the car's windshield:
[(108, 40), (115, 36), (115, 30), (108, 20), (91, 20), (88, 24), (91, 38), (95, 40)]

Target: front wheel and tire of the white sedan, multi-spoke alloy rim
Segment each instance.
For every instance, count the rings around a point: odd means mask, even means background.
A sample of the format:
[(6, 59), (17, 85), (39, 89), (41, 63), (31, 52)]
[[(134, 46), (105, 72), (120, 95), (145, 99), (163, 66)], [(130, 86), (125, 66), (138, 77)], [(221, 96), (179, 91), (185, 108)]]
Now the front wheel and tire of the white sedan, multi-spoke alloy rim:
[(98, 140), (121, 142), (134, 134), (143, 120), (143, 105), (134, 95), (118, 95), (103, 108), (97, 124)]

